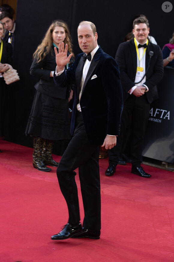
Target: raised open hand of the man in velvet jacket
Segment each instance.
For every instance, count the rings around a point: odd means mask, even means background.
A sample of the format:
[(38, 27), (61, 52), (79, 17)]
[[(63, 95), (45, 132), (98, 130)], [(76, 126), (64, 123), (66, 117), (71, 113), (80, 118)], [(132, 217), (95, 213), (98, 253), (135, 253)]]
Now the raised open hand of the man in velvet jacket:
[(57, 64), (57, 72), (60, 72), (64, 70), (65, 65), (67, 65), (67, 63), (70, 61), (70, 58), (73, 54), (70, 54), (67, 57), (68, 45), (66, 44), (64, 49), (63, 42), (58, 45), (58, 52), (56, 47), (54, 48), (54, 51), (55, 51), (55, 61)]

